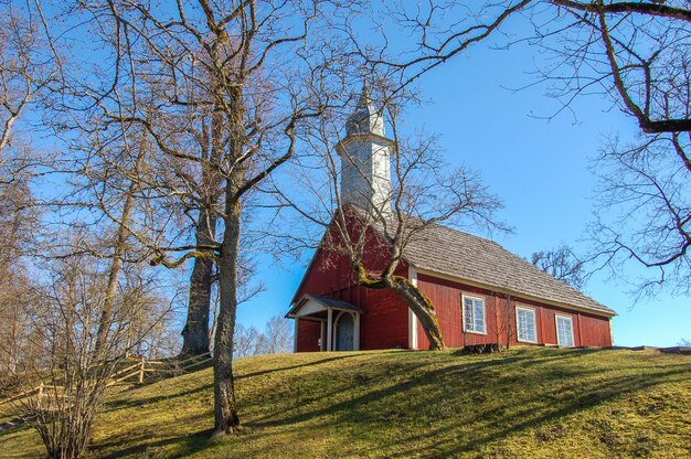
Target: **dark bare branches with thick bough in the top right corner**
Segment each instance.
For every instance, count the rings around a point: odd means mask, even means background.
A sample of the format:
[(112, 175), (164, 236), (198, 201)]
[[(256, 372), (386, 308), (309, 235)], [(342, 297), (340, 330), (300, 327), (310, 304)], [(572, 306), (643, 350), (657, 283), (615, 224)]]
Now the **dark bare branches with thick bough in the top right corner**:
[[(551, 3), (554, 19), (536, 17), (542, 23), (532, 40), (562, 57), (543, 73), (551, 95), (568, 105), (576, 95), (605, 92), (645, 134), (691, 131), (688, 2)], [(685, 154), (680, 159), (691, 166)]]

